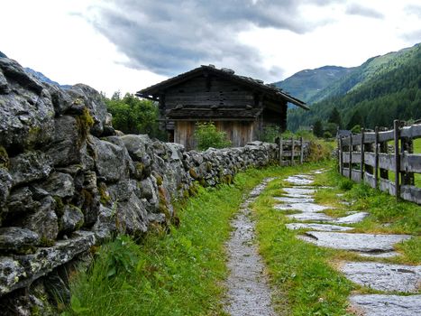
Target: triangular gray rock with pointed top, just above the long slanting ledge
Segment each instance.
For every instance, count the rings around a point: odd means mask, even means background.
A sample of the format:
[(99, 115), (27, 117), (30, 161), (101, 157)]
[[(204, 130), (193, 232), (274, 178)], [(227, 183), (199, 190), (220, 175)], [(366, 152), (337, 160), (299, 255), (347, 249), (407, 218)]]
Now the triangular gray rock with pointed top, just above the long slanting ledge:
[(23, 218), (23, 227), (38, 233), (45, 241), (56, 240), (59, 221), (54, 212), (55, 201), (49, 196), (41, 200), (41, 207)]

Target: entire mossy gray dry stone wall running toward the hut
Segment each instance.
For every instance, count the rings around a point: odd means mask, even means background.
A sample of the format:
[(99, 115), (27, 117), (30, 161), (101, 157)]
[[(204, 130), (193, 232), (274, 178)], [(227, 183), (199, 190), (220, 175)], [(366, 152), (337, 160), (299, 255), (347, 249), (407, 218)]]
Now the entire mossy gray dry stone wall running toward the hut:
[(275, 144), (185, 152), (114, 131), (95, 89), (61, 89), (0, 58), (0, 308), (49, 311), (69, 300), (67, 271), (113, 234), (176, 221), (195, 185), (231, 182), (276, 160)]

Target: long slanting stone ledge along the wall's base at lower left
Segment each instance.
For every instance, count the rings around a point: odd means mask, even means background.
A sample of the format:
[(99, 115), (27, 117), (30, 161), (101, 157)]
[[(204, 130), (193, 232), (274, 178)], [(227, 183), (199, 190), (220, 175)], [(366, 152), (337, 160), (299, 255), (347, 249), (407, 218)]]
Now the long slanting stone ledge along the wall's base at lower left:
[(41, 275), (87, 251), (95, 242), (93, 232), (78, 231), (54, 246), (39, 248), (32, 255), (0, 257), (0, 295), (28, 286)]

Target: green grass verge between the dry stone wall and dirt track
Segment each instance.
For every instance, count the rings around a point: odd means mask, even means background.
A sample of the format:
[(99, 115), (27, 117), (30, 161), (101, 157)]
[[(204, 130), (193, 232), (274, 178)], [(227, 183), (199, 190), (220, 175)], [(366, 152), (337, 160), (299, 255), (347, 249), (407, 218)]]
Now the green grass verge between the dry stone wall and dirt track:
[(169, 233), (157, 228), (139, 245), (117, 237), (101, 246), (94, 265), (72, 279), (67, 314), (224, 314), (229, 219), (244, 193), (281, 169), (249, 170), (238, 174), (234, 185), (200, 188), (197, 196), (177, 207), (180, 226)]

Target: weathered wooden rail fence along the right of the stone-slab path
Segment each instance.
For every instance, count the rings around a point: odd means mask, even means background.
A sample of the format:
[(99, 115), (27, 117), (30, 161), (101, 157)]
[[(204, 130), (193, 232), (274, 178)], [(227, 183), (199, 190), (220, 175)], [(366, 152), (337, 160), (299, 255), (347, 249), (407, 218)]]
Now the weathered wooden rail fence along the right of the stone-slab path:
[[(413, 140), (421, 138), (421, 125), (338, 139), (339, 172), (353, 181), (389, 192), (403, 200), (421, 204), (421, 188), (415, 186), (415, 173), (421, 173), (421, 153), (414, 153)], [(393, 145), (390, 145), (392, 143)], [(389, 180), (392, 176), (393, 181)]]

